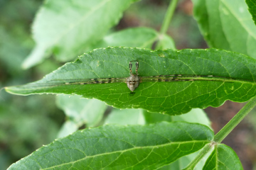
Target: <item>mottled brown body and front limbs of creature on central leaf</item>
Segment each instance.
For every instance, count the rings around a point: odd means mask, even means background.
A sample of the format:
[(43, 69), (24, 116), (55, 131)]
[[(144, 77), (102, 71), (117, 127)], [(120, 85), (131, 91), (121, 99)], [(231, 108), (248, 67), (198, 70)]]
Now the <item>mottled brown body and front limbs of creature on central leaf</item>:
[[(136, 74), (132, 74), (132, 62), (136, 62)], [(130, 69), (130, 76), (127, 77), (125, 83), (127, 87), (134, 91), (139, 86), (139, 77), (138, 77), (138, 69), (139, 69), (139, 62), (137, 60), (129, 62), (129, 69)]]

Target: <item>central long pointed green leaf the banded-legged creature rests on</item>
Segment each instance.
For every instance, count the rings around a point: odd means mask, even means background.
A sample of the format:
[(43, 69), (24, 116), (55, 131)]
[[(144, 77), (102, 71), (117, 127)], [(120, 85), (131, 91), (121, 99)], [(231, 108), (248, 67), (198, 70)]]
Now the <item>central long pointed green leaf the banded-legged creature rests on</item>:
[[(87, 82), (85, 79), (125, 79), (129, 77), (129, 62), (132, 60), (139, 61), (140, 77), (169, 74), (189, 76), (175, 77), (178, 81), (163, 82), (165, 78), (160, 77), (157, 78), (160, 82), (142, 82), (132, 94), (124, 82), (83, 84)], [(218, 107), (225, 100), (248, 101), (256, 95), (255, 65), (254, 59), (225, 50), (151, 51), (109, 47), (82, 55), (40, 81), (5, 89), (11, 94), (20, 95), (78, 94), (100, 99), (116, 108), (144, 108), (151, 112), (176, 115), (187, 113), (191, 108)], [(182, 79), (189, 81), (179, 81)], [(109, 82), (110, 79), (105, 81)]]

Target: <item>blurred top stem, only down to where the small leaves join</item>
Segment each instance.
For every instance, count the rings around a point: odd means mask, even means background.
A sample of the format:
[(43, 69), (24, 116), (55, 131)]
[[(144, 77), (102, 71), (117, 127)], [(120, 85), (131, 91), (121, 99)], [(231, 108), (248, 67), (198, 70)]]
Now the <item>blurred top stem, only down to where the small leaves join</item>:
[(168, 30), (168, 27), (171, 23), (171, 17), (174, 15), (177, 2), (178, 0), (172, 0), (169, 4), (169, 7), (166, 11), (166, 15), (164, 16), (164, 22), (161, 26), (161, 30), (160, 30), (161, 35), (164, 35)]

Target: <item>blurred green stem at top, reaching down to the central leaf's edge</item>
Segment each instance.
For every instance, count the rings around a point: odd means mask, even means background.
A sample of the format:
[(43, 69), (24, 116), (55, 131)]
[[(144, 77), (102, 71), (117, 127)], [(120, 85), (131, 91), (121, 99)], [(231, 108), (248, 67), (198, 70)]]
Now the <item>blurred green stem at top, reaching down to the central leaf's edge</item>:
[(176, 8), (176, 5), (178, 3), (178, 0), (171, 0), (169, 7), (166, 11), (166, 15), (164, 16), (164, 21), (163, 24), (161, 26), (161, 30), (159, 33), (159, 40), (156, 42), (156, 49), (155, 50), (159, 50), (159, 45), (161, 44), (161, 40), (164, 37), (164, 34), (167, 32), (169, 25), (171, 23), (171, 18), (174, 15), (174, 11)]

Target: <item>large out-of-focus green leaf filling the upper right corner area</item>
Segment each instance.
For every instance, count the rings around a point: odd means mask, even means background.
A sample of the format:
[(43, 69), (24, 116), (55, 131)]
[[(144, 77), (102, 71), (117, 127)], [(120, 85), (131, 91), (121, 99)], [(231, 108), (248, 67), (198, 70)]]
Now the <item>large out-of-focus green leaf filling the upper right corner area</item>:
[(256, 58), (256, 27), (245, 1), (193, 0), (194, 16), (210, 47)]

